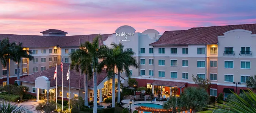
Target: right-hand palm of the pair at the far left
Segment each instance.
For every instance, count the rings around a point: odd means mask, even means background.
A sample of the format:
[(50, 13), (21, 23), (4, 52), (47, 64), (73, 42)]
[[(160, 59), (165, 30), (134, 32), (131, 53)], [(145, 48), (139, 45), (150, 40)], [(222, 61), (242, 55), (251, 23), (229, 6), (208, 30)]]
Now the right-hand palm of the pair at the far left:
[[(30, 55), (32, 53), (31, 50), (26, 50), (22, 48), (22, 43), (16, 46), (16, 52), (14, 54), (13, 61), (17, 62), (17, 79), (20, 79), (20, 62), (22, 58), (28, 58), (28, 60), (33, 60), (34, 56)], [(18, 85), (20, 82), (18, 81)]]

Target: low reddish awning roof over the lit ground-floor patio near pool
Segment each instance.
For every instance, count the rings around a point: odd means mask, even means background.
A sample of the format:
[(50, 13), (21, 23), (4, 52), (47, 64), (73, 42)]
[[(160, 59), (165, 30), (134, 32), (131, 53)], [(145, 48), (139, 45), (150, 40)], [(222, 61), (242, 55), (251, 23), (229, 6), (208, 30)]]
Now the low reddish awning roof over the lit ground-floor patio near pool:
[(185, 82), (174, 82), (174, 81), (158, 81), (155, 80), (151, 85), (157, 85), (157, 86), (169, 86), (169, 87), (185, 87)]

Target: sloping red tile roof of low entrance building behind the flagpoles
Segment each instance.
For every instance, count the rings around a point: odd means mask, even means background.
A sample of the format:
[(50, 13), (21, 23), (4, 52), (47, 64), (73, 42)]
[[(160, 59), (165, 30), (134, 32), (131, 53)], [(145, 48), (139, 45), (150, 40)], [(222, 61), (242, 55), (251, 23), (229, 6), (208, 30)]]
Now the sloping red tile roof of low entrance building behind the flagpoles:
[[(66, 79), (66, 74), (68, 73), (68, 64), (63, 64), (63, 83), (64, 87), (68, 87), (68, 80)], [(50, 87), (56, 86), (56, 80), (53, 79), (53, 75), (55, 72), (56, 67), (52, 67), (50, 69), (37, 72), (23, 78), (20, 78), (19, 81), (23, 82), (30, 82), (35, 83), (35, 79), (39, 76), (46, 76), (49, 78)], [(62, 86), (62, 72), (61, 67), (58, 65), (57, 68), (57, 79), (58, 79), (58, 86)], [(102, 70), (102, 73), (97, 74), (97, 85), (99, 85), (105, 78), (107, 77), (107, 73), (105, 70)], [(77, 72), (75, 69), (70, 71), (70, 87), (75, 89), (83, 89), (84, 88), (84, 74)], [(93, 79), (88, 78), (88, 87), (93, 87)]]

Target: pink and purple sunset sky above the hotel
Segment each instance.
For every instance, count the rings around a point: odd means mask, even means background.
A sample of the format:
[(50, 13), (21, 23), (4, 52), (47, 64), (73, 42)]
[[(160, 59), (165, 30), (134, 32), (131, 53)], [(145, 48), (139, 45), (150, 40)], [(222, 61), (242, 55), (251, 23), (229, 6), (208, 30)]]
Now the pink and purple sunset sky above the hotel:
[(112, 34), (256, 23), (256, 0), (1, 0), (0, 34)]

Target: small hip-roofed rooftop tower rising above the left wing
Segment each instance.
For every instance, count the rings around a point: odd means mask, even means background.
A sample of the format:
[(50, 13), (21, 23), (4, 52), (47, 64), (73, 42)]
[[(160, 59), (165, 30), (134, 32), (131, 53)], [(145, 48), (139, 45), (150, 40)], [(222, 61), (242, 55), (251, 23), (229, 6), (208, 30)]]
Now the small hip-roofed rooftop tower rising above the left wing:
[(68, 32), (64, 32), (58, 29), (48, 29), (46, 31), (42, 31), (40, 32), (41, 34), (43, 34), (43, 36), (66, 36), (66, 34), (68, 34)]

